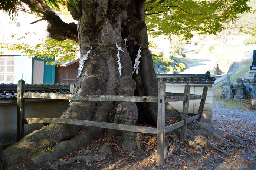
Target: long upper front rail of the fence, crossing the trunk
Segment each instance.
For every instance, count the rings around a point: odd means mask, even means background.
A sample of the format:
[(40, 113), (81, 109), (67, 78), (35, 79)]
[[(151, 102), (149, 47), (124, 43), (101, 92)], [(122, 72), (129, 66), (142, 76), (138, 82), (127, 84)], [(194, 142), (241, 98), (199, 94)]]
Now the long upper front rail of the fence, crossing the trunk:
[(23, 98), (86, 100), (86, 101), (115, 101), (115, 102), (157, 102), (157, 96), (108, 96), (108, 95), (72, 95), (53, 93), (28, 93)]

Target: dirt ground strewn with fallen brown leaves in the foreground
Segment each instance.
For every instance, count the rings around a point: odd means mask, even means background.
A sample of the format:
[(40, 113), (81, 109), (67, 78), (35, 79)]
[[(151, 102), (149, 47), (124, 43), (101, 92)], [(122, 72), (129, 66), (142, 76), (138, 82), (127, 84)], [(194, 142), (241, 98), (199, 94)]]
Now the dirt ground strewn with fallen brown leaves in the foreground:
[[(213, 126), (213, 125), (209, 125)], [(92, 144), (86, 148), (80, 148), (68, 153), (62, 158), (51, 160), (44, 163), (33, 163), (29, 158), (19, 164), (8, 164), (10, 170), (49, 170), (51, 165), (67, 161), (72, 157), (90, 155), (98, 151), (99, 147), (106, 141), (110, 142), (111, 154), (107, 154), (103, 160), (96, 160), (86, 164), (83, 161), (75, 161), (68, 165), (60, 166), (59, 169), (70, 170), (143, 170), (143, 169), (188, 169), (188, 170), (253, 170), (256, 169), (256, 144), (248, 138), (242, 138), (250, 148), (222, 148), (230, 155), (224, 155), (210, 148), (204, 148), (203, 155), (199, 156), (196, 150), (183, 146), (185, 153), (179, 155), (169, 153), (165, 158), (164, 166), (156, 164), (156, 135), (141, 134), (141, 148), (144, 153), (141, 156), (133, 156), (121, 147), (121, 137), (106, 138), (105, 133), (93, 140)], [(182, 144), (182, 143), (181, 143)], [(51, 152), (51, 151), (49, 151)], [(54, 151), (53, 151), (54, 152)]]

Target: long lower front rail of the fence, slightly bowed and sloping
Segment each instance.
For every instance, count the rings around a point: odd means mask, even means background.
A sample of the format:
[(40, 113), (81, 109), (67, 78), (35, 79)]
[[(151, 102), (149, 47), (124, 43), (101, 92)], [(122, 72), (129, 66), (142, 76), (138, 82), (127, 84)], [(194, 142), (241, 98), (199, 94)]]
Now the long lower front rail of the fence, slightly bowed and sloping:
[(95, 121), (78, 120), (78, 119), (26, 118), (26, 119), (23, 119), (23, 123), (24, 124), (61, 123), (61, 124), (93, 126), (93, 127), (97, 127), (97, 128), (116, 129), (116, 130), (129, 130), (131, 132), (157, 134), (157, 128), (152, 128), (152, 127), (142, 127), (142, 126), (134, 126), (134, 125), (123, 125), (123, 124), (107, 123), (107, 122), (95, 122)]

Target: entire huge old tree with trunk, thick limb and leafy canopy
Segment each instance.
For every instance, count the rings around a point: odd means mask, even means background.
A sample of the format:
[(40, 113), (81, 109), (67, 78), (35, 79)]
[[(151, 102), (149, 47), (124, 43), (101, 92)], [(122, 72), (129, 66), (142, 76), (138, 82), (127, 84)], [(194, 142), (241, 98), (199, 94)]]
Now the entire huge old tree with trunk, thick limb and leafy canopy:
[[(23, 3), (28, 5), (49, 22), (47, 31), (51, 38), (58, 41), (69, 39), (79, 44), (81, 59), (92, 47), (88, 59), (83, 64), (73, 94), (156, 96), (158, 81), (148, 50), (147, 29), (156, 30), (149, 33), (151, 36), (175, 34), (183, 35), (185, 39), (193, 36), (191, 31), (197, 31), (198, 34), (215, 34), (224, 29), (221, 23), (226, 19), (235, 18), (238, 13), (250, 10), (246, 4), (247, 1), (80, 0), (77, 3), (70, 1), (68, 3), (70, 14), (78, 24), (65, 23), (55, 14), (49, 6), (59, 2), (56, 0), (1, 1), (0, 8), (13, 14), (16, 6)], [(123, 41), (125, 38), (128, 39), (126, 44), (128, 47), (125, 47)], [(117, 47), (123, 50), (119, 51), (121, 72), (117, 63)], [(140, 68), (138, 74), (133, 74), (134, 60), (139, 48), (142, 56)], [(180, 120), (180, 115), (175, 109), (170, 105), (166, 107), (167, 120)], [(114, 116), (111, 114), (113, 110)], [(99, 122), (113, 120), (115, 123), (129, 125), (139, 121), (157, 125), (157, 105), (155, 103), (71, 101), (61, 118)], [(52, 160), (78, 147), (87, 146), (103, 130), (51, 123), (8, 147), (4, 150), (4, 157), (9, 163), (19, 162), (26, 157), (32, 157), (34, 162)], [(109, 136), (116, 133), (118, 132), (108, 131)], [(191, 135), (199, 133), (201, 132), (195, 130)], [(216, 141), (220, 140), (214, 138), (213, 134), (218, 137), (226, 136), (219, 131), (208, 132), (204, 136)], [(239, 139), (236, 141), (241, 142)], [(55, 150), (45, 153), (45, 149), (51, 146), (54, 146)]]

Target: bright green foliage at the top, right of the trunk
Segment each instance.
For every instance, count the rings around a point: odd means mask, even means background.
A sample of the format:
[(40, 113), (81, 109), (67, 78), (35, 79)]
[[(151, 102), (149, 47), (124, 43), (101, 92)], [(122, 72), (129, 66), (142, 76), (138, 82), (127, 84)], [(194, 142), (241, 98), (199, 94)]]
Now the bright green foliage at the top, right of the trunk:
[[(197, 34), (216, 34), (226, 29), (222, 24), (227, 19), (236, 18), (237, 14), (248, 12), (249, 0), (165, 0), (146, 3), (146, 23), (149, 35), (157, 37), (171, 34), (183, 35), (182, 40)], [(171, 34), (170, 34), (171, 33)]]

